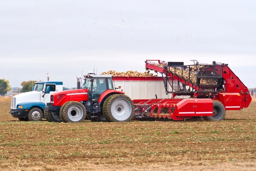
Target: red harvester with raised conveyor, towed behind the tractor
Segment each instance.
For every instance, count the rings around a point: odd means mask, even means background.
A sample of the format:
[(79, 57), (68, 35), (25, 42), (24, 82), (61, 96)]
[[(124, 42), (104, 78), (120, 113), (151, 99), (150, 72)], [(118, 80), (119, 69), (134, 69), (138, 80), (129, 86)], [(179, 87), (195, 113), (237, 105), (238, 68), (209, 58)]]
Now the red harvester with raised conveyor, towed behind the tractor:
[[(146, 60), (145, 67), (146, 70), (154, 70), (162, 74), (166, 94), (172, 93), (172, 99), (134, 100), (137, 112), (134, 118), (137, 119), (186, 120), (203, 116), (205, 120), (222, 120), (226, 110), (241, 110), (248, 107), (252, 100), (247, 87), (230, 70), (228, 64), (213, 61), (212, 64), (197, 62), (194, 65), (183, 65), (183, 62), (166, 63), (160, 60)], [(187, 79), (183, 75), (184, 68), (188, 68)], [(196, 78), (193, 81), (190, 78), (191, 68), (194, 68), (193, 77)], [(201, 74), (210, 72), (213, 76), (198, 75), (199, 68)], [(181, 73), (178, 74), (177, 70)], [(172, 79), (172, 84), (169, 78)], [(205, 79), (204, 85), (201, 84), (201, 79)], [(177, 81), (176, 91), (174, 91), (173, 81)], [(172, 87), (172, 91), (168, 90), (168, 84)], [(186, 89), (187, 86), (188, 89)], [(190, 98), (174, 99), (175, 96), (190, 96)]]

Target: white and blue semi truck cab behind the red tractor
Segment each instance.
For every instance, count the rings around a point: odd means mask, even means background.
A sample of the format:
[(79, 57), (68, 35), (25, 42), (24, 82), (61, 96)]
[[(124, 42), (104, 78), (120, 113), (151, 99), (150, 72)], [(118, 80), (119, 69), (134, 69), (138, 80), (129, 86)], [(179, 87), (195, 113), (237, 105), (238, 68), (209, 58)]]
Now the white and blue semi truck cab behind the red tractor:
[(32, 91), (12, 97), (9, 113), (20, 121), (41, 121), (44, 117), (44, 107), (50, 102), (51, 94), (62, 90), (61, 81), (37, 81)]

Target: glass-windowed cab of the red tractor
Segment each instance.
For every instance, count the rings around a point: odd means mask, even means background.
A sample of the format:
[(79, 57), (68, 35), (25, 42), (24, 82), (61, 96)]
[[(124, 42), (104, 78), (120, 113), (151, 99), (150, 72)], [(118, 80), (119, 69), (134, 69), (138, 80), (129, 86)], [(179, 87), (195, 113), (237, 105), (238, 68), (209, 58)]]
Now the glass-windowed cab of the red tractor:
[(106, 90), (114, 90), (112, 75), (84, 75), (84, 89), (89, 89), (92, 101), (98, 101)]

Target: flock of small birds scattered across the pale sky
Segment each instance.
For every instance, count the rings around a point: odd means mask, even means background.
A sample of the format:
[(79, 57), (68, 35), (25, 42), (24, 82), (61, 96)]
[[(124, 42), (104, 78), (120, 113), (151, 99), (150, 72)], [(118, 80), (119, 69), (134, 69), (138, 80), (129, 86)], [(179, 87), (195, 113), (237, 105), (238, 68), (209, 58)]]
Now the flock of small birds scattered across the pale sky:
[[(141, 15), (142, 14), (140, 13), (140, 16)], [(186, 31), (184, 31), (183, 35), (179, 34), (180, 36), (175, 37), (175, 35), (177, 35), (177, 33), (175, 32), (169, 32), (167, 34), (164, 34), (163, 32), (165, 29), (157, 28), (153, 30), (153, 28), (156, 27), (152, 26), (152, 24), (154, 24), (155, 21), (152, 23), (147, 23), (147, 26), (144, 25), (144, 27), (142, 23), (135, 23), (135, 20), (136, 19), (125, 19), (125, 17), (123, 17), (120, 13), (118, 17), (111, 17), (108, 20), (93, 19), (93, 26), (91, 26), (90, 24), (82, 26), (84, 26), (85, 28), (92, 27), (90, 29), (93, 29), (94, 33), (87, 34), (88, 37), (92, 37), (95, 34), (95, 32), (98, 32), (98, 35), (113, 34), (118, 36), (129, 36), (130, 39), (137, 39), (137, 42), (140, 39), (150, 38), (151, 40), (156, 40), (161, 37), (166, 39), (167, 41), (177, 41), (178, 43), (180, 41), (200, 41), (204, 38), (204, 36), (198, 36), (201, 34), (201, 32), (197, 32), (194, 33), (194, 35), (192, 35), (191, 32), (186, 33)], [(145, 24), (145, 22), (143, 23)]]

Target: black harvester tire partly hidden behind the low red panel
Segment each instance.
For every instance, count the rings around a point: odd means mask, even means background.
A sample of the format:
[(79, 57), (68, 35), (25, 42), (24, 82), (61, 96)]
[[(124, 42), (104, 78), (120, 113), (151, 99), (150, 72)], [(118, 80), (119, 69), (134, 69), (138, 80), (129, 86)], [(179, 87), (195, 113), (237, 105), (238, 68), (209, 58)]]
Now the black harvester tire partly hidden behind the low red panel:
[(203, 116), (206, 121), (222, 121), (225, 118), (226, 109), (220, 101), (213, 101), (213, 116)]

